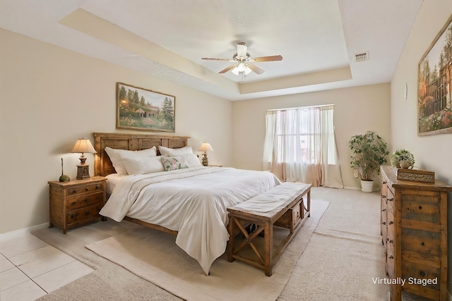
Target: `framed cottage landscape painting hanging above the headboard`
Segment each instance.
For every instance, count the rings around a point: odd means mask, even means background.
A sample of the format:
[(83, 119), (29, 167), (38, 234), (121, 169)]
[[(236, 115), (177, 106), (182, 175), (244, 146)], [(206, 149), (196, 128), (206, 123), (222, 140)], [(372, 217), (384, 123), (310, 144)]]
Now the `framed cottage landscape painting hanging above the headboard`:
[(174, 132), (176, 97), (116, 83), (117, 128)]

